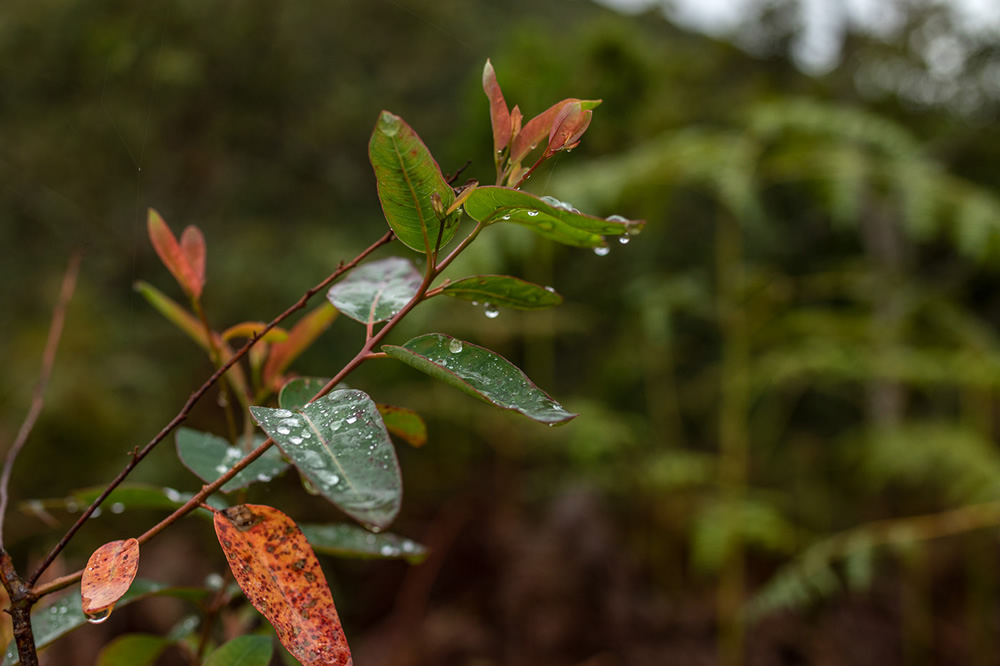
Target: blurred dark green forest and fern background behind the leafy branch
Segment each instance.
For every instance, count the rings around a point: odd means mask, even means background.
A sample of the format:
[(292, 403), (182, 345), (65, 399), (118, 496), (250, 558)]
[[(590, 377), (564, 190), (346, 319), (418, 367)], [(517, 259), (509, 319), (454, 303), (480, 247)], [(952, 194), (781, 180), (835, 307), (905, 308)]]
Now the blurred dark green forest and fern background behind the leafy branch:
[[(692, 663), (715, 652), (717, 622), (729, 663), (742, 651), (796, 663), (779, 656), (849, 633), (837, 608), (891, 618), (842, 663), (992, 663), (995, 530), (920, 544), (998, 522), (942, 512), (1000, 501), (1000, 40), (947, 5), (887, 4), (902, 17), (891, 34), (849, 32), (839, 65), (810, 76), (793, 58), (791, 1), (756, 3), (724, 40), (582, 0), (8, 0), (0, 441), (27, 405), (62, 267), (87, 253), (16, 497), (106, 481), (209, 371), (132, 292), (135, 279), (167, 280), (147, 207), (205, 231), (210, 317), (267, 319), (382, 233), (366, 153), (380, 109), (403, 115), (446, 173), (471, 160), (462, 178), (491, 180), (490, 57), (528, 115), (567, 96), (604, 100), (580, 148), (532, 182), (649, 224), (603, 258), (509, 230), (468, 259), (501, 272), (528, 257), (516, 268), (566, 296), (559, 312), (416, 313), (418, 327), (434, 321), (518, 361), (581, 412), (571, 426), (525, 434), (471, 402), (439, 408), (447, 389), (404, 369), (360, 373), (430, 421), (431, 444), (401, 453), (402, 531), (440, 526), (455, 498), (488, 516), (438, 544), (454, 572), (432, 605), (499, 618), (471, 647), (425, 636), (412, 662), (370, 663), (570, 664), (602, 650)], [(339, 367), (357, 339), (335, 326), (302, 365)], [(195, 418), (218, 423), (211, 405)], [(158, 461), (143, 480), (193, 487), (171, 456)], [(922, 514), (943, 517), (903, 522)], [(609, 629), (589, 636), (560, 606), (564, 624), (542, 635), (531, 593), (545, 590), (525, 581), (561, 580), (545, 567), (558, 569), (579, 524), (596, 536), (566, 571), (589, 580), (590, 547), (619, 572), (588, 598), (586, 621)], [(22, 556), (49, 543), (30, 516), (14, 527)], [(348, 599), (349, 576), (372, 591), (344, 602), (349, 633), (376, 635), (405, 573), (337, 566)], [(959, 599), (935, 589), (954, 579)], [(566, 585), (552, 597), (584, 594)], [(740, 620), (755, 592), (763, 612), (847, 588), (872, 591), (824, 602), (841, 606), (811, 629), (794, 616)], [(935, 613), (964, 623), (961, 638), (942, 636)]]

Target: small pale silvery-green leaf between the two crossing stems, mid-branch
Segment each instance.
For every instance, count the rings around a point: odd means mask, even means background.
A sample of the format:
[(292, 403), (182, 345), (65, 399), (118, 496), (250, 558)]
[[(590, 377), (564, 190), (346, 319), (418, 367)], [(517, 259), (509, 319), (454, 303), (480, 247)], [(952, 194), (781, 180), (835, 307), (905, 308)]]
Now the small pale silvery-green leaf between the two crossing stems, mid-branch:
[(423, 278), (406, 259), (389, 257), (359, 266), (330, 287), (334, 307), (362, 324), (391, 319), (417, 295)]

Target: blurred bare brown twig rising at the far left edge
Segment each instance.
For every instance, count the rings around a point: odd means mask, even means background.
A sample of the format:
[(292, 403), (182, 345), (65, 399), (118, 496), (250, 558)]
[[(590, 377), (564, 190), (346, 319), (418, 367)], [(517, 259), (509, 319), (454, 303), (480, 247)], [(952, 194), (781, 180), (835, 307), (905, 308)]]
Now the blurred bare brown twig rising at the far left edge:
[(76, 280), (80, 275), (80, 262), (83, 259), (82, 252), (75, 252), (69, 259), (66, 272), (63, 274), (62, 286), (59, 289), (59, 298), (52, 311), (52, 321), (49, 324), (49, 336), (45, 341), (45, 351), (42, 353), (42, 369), (38, 376), (38, 383), (35, 385), (34, 394), (31, 397), (31, 406), (28, 414), (24, 417), (21, 428), (17, 431), (17, 437), (7, 450), (7, 459), (4, 461), (3, 471), (0, 472), (0, 547), (3, 547), (3, 528), (7, 516), (7, 503), (10, 496), (10, 475), (14, 468), (14, 461), (17, 459), (21, 449), (24, 448), (31, 431), (38, 421), (42, 408), (45, 405), (45, 389), (48, 388), (49, 378), (52, 376), (52, 368), (55, 366), (56, 351), (59, 349), (59, 340), (62, 337), (63, 324), (66, 322), (66, 310), (69, 302), (73, 298), (76, 290)]

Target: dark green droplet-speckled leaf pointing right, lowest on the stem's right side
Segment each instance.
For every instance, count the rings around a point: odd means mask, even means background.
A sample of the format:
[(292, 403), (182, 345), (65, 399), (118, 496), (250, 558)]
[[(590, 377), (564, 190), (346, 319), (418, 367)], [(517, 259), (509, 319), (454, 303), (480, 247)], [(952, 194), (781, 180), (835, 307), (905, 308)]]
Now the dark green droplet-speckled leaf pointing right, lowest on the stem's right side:
[(384, 345), (382, 351), (459, 391), (535, 421), (555, 424), (576, 417), (507, 359), (451, 336), (428, 333), (401, 347)]

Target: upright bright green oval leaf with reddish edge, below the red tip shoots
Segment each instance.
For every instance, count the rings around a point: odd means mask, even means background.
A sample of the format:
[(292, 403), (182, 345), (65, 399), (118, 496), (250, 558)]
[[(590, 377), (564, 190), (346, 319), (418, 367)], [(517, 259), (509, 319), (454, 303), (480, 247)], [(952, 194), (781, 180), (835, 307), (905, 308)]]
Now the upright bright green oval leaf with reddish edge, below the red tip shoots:
[(368, 157), (375, 170), (382, 212), (396, 237), (417, 252), (433, 250), (451, 240), (459, 215), (449, 217), (441, 230), (432, 195), (440, 197), (442, 210), (455, 200), (455, 192), (441, 174), (417, 133), (397, 115), (383, 111), (368, 143)]

